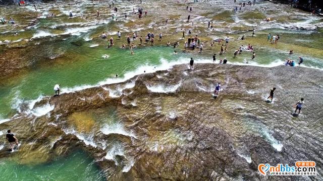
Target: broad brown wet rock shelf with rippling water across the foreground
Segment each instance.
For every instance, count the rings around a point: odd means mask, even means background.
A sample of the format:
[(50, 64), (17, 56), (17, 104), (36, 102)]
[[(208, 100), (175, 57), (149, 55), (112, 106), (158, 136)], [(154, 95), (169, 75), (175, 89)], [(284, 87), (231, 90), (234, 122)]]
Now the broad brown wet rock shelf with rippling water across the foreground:
[[(113, 180), (312, 180), (322, 177), (323, 75), (320, 70), (196, 64), (126, 82), (44, 98), (0, 124), (21, 141), (0, 150), (22, 164), (82, 148)], [(217, 82), (223, 91), (212, 94)], [(276, 86), (274, 102), (266, 103)], [(303, 97), (305, 107), (293, 117)], [(92, 119), (93, 118), (93, 119)], [(8, 144), (6, 143), (8, 147)], [(248, 160), (248, 158), (250, 160)], [(249, 162), (248, 162), (249, 161)], [(316, 177), (264, 177), (260, 163), (315, 161)]]

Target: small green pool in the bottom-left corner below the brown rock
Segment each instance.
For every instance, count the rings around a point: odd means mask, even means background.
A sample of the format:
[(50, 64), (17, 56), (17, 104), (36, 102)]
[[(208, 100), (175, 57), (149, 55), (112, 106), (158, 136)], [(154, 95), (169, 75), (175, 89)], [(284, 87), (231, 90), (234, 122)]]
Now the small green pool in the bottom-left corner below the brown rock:
[(82, 151), (38, 165), (0, 160), (0, 180), (105, 180), (93, 159)]

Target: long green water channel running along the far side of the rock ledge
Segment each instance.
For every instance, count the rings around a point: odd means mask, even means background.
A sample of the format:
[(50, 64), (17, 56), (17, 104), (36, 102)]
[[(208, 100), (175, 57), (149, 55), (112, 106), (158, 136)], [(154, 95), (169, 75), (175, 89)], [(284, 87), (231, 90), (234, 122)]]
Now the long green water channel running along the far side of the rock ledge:
[[(178, 54), (174, 55), (173, 47), (148, 46), (134, 49), (134, 54), (131, 55), (129, 49), (120, 49), (118, 47), (107, 49), (100, 44), (97, 47), (90, 48), (89, 46), (92, 44), (96, 43), (85, 42), (80, 47), (71, 44), (64, 47), (63, 43), (58, 43), (55, 47), (60, 46), (62, 49), (66, 49), (65, 55), (59, 56), (58, 60), (49, 59), (39, 63), (28, 74), (18, 78), (15, 77), (6, 82), (4, 86), (0, 87), (0, 115), (3, 118), (10, 117), (15, 112), (13, 108), (15, 108), (17, 100), (34, 100), (40, 95), (52, 95), (53, 85), (58, 83), (61, 84), (64, 92), (64, 89), (68, 87), (95, 85), (107, 78), (115, 78), (116, 74), (118, 74), (118, 78), (123, 78), (125, 73), (135, 71), (140, 66), (149, 65), (151, 66), (150, 68), (153, 68), (153, 66), (161, 64), (161, 59), (166, 62), (188, 63), (189, 57), (193, 57), (196, 63), (206, 63), (208, 60), (212, 62), (211, 54), (219, 53), (220, 51), (220, 45), (216, 45), (212, 51), (204, 54), (191, 55), (178, 49)], [(243, 44), (244, 46), (247, 45), (245, 42)], [(229, 63), (241, 64), (245, 63), (246, 60), (250, 60), (252, 52), (243, 51), (242, 55), (233, 58), (233, 50), (233, 47), (229, 47), (229, 52), (218, 55), (217, 59), (226, 57)], [(255, 52), (257, 57), (253, 63), (263, 66), (271, 65), (272, 63), (274, 63), (272, 66), (280, 65), (284, 57), (297, 60), (297, 55), (286, 55), (284, 50), (275, 49), (275, 47), (272, 49), (256, 47)], [(109, 55), (109, 58), (104, 59), (102, 56), (105, 54)], [(318, 58), (305, 56), (304, 59), (306, 59), (304, 63), (306, 66), (323, 68), (323, 64)], [(143, 71), (142, 69), (142, 72), (137, 73), (143, 73)], [(146, 71), (151, 71), (151, 69)], [(106, 83), (109, 83), (109, 81)]]

